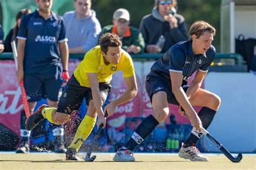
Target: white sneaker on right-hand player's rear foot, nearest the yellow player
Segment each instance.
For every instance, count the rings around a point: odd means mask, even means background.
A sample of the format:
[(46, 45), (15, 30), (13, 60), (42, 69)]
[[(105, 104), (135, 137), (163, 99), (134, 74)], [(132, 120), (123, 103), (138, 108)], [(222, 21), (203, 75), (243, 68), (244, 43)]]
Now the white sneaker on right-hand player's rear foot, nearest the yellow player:
[(128, 150), (126, 147), (121, 147), (114, 155), (113, 161), (130, 162), (135, 161), (135, 158), (133, 157), (133, 152), (131, 150)]

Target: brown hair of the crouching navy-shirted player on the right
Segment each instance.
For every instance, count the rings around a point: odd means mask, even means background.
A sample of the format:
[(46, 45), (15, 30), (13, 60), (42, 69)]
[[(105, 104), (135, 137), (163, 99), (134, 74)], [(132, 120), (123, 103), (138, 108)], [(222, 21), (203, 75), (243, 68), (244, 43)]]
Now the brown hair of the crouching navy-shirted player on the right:
[(197, 22), (191, 25), (190, 31), (188, 31), (188, 37), (190, 37), (191, 39), (192, 35), (194, 34), (197, 36), (197, 38), (199, 38), (201, 35), (204, 34), (205, 31), (208, 31), (212, 33), (213, 36), (215, 36), (216, 30), (212, 25), (204, 22), (203, 20), (198, 20)]

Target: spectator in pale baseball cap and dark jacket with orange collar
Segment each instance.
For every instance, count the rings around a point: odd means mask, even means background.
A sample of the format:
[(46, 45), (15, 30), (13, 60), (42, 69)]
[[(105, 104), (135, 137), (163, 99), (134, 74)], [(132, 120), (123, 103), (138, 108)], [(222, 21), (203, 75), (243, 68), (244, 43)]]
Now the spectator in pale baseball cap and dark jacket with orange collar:
[(130, 24), (130, 14), (126, 9), (118, 9), (113, 14), (113, 25), (107, 25), (100, 34), (107, 32), (117, 34), (122, 40), (122, 49), (128, 53), (138, 54), (144, 51), (145, 42), (142, 33)]

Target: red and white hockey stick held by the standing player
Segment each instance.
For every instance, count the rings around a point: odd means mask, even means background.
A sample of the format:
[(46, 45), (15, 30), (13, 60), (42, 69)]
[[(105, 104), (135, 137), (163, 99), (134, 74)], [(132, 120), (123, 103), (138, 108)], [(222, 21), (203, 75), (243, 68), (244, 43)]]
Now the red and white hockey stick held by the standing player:
[[(14, 55), (15, 66), (16, 66), (16, 69), (18, 69), (18, 61), (17, 61), (18, 53), (17, 53), (15, 41), (11, 42), (11, 48), (12, 48), (12, 54)], [(23, 81), (19, 82), (19, 86), (21, 87), (22, 103), (23, 103), (25, 115), (26, 115), (26, 118), (28, 118), (30, 116), (30, 111), (29, 111), (28, 98), (26, 98), (26, 91), (24, 88)]]

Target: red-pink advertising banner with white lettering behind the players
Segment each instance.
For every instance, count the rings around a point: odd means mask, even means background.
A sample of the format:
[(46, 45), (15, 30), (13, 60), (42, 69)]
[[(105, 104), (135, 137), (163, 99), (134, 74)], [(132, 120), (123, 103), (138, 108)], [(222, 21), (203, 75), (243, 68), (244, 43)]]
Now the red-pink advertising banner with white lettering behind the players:
[[(79, 60), (69, 61), (69, 73), (72, 75), (76, 69)], [(152, 114), (153, 109), (150, 98), (145, 90), (146, 75), (149, 73), (153, 61), (134, 62), (136, 71), (136, 81), (138, 86), (138, 94), (131, 101), (119, 105), (116, 108), (115, 114), (107, 118), (107, 127), (114, 131), (124, 130), (125, 119), (127, 117), (146, 117)], [(19, 134), (19, 118), (20, 112), (23, 109), (21, 89), (18, 86), (18, 81), (15, 76), (16, 68), (12, 60), (0, 61), (0, 124), (6, 128)], [(190, 79), (190, 81), (193, 77)], [(122, 72), (113, 74), (112, 90), (109, 96), (109, 102), (115, 100), (122, 95), (126, 90), (126, 84)], [(176, 117), (177, 124), (190, 124), (187, 118), (180, 116), (178, 106), (169, 105), (170, 114)], [(199, 111), (199, 107), (195, 107)], [(169, 117), (166, 118), (165, 124), (170, 124)]]

